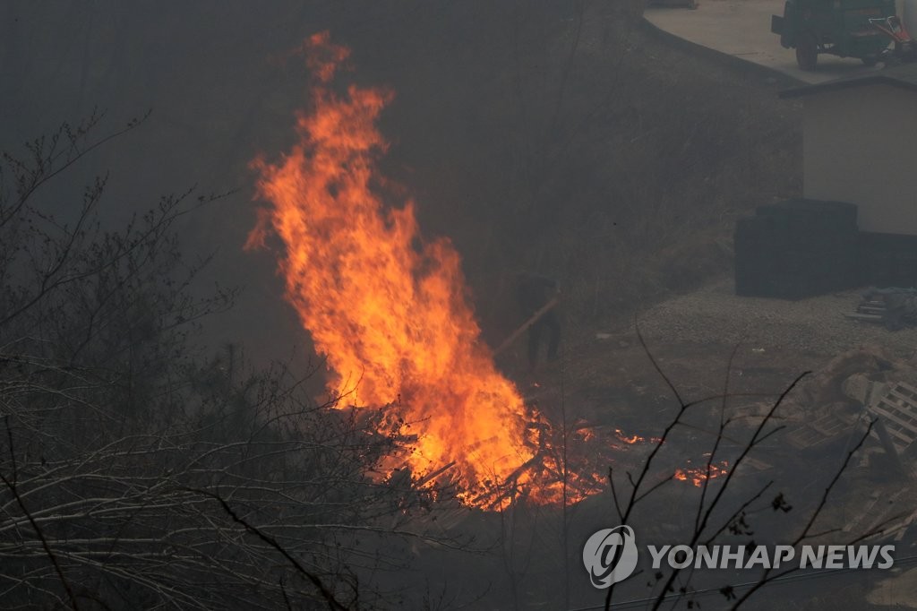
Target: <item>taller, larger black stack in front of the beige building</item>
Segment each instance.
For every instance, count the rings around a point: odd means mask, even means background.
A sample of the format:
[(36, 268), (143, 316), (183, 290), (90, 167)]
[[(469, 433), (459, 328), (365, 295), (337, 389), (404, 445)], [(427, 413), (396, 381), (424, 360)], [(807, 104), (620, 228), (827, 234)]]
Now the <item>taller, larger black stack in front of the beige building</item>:
[(858, 286), (856, 206), (791, 199), (735, 225), (735, 294), (800, 299)]

